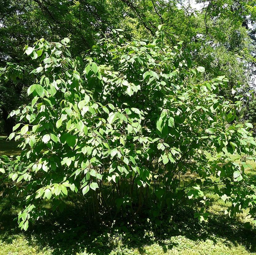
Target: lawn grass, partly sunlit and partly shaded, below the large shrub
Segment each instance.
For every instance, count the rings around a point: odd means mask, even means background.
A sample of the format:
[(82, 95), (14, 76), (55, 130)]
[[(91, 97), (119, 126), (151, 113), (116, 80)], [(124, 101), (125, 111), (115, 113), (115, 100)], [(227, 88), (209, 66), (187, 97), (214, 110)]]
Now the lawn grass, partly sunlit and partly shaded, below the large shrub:
[[(17, 143), (0, 140), (0, 154), (18, 155)], [(246, 171), (255, 174), (256, 165), (250, 163), (253, 170)], [(172, 224), (161, 226), (143, 217), (132, 222), (117, 217), (99, 227), (69, 205), (24, 232), (14, 220), (16, 209), (10, 208), (0, 215), (0, 255), (256, 255), (256, 231), (243, 226), (245, 214), (229, 218), (223, 214), (226, 204), (210, 189), (206, 195), (213, 201), (208, 222), (193, 219), (193, 208), (184, 207)]]

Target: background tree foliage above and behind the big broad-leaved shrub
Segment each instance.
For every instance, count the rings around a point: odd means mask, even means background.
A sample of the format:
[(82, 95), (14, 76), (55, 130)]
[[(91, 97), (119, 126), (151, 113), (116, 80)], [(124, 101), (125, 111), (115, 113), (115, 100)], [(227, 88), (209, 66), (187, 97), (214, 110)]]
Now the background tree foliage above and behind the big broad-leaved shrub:
[[(119, 27), (125, 30), (128, 40), (152, 39), (157, 26), (163, 24), (168, 42), (174, 46), (183, 41), (195, 65), (205, 67), (206, 80), (222, 75), (229, 79), (229, 87), (221, 91), (222, 95), (233, 99), (231, 91), (237, 81), (243, 86), (239, 93), (246, 94), (255, 70), (255, 2), (205, 2), (201, 10), (193, 9), (189, 3), (180, 0), (64, 0), (61, 4), (56, 0), (2, 1), (0, 68), (7, 62), (34, 65), (35, 61), (23, 55), (21, 49), (41, 37), (59, 41), (71, 36), (70, 51), (80, 56), (95, 44), (95, 34), (99, 32), (108, 36), (112, 28)], [(26, 73), (23, 76), (24, 80), (15, 82), (0, 81), (0, 113), (7, 133), (14, 125), (14, 120), (7, 120), (8, 114), (28, 103), (24, 92), (29, 84), (35, 83), (33, 77), (27, 77)]]

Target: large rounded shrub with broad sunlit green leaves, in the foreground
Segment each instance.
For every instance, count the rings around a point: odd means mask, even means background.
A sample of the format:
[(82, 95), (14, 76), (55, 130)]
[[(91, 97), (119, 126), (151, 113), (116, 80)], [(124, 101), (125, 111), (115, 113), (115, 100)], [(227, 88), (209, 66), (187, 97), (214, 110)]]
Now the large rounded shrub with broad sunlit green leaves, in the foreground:
[(0, 168), (3, 196), (21, 198), (21, 228), (46, 214), (43, 200), (62, 210), (71, 192), (85, 196), (96, 219), (114, 207), (134, 214), (149, 198), (159, 217), (199, 198), (195, 217), (207, 221), (204, 190), (213, 186), (232, 202), (226, 213), (249, 208), (254, 217), (245, 163), (207, 157), (223, 151), (255, 159), (252, 124), (235, 122), (242, 101), (217, 96), (227, 79), (201, 82), (204, 68), (191, 67), (182, 43), (168, 46), (159, 29), (153, 41), (132, 42), (114, 29), (114, 39), (103, 38), (84, 61), (71, 58), (68, 38), (25, 47), (40, 59), (31, 72), (37, 83), (27, 91), (31, 104), (12, 113), (19, 123), (9, 139), (21, 141), (21, 155), (4, 156)]

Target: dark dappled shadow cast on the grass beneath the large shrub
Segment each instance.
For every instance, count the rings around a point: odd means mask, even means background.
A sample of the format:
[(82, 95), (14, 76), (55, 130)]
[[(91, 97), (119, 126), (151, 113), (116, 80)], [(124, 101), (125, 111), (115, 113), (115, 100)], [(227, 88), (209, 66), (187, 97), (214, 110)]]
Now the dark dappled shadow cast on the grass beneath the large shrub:
[(235, 246), (242, 244), (248, 251), (256, 251), (255, 231), (245, 229), (238, 219), (213, 214), (209, 222), (199, 223), (193, 219), (193, 214), (193, 209), (189, 207), (181, 209), (172, 225), (162, 222), (156, 226), (145, 220), (146, 215), (134, 221), (116, 218), (114, 224), (107, 219), (104, 225), (96, 225), (89, 222), (82, 211), (69, 206), (63, 213), (51, 214), (47, 220), (39, 220), (24, 232), (19, 230), (13, 220), (16, 215), (4, 213), (0, 216), (0, 238), (11, 243), (16, 235), (22, 233), (31, 245), (36, 243), (39, 247), (54, 249), (54, 255), (76, 254), (84, 250), (88, 253), (109, 254), (117, 245), (115, 238), (118, 236), (122, 236), (124, 247), (137, 248), (140, 254), (146, 253), (145, 245), (153, 243), (158, 243), (166, 252), (177, 246), (175, 241), (169, 240), (173, 236), (184, 236), (193, 241), (208, 239), (214, 243), (218, 238), (223, 238), (226, 246), (230, 243)]

